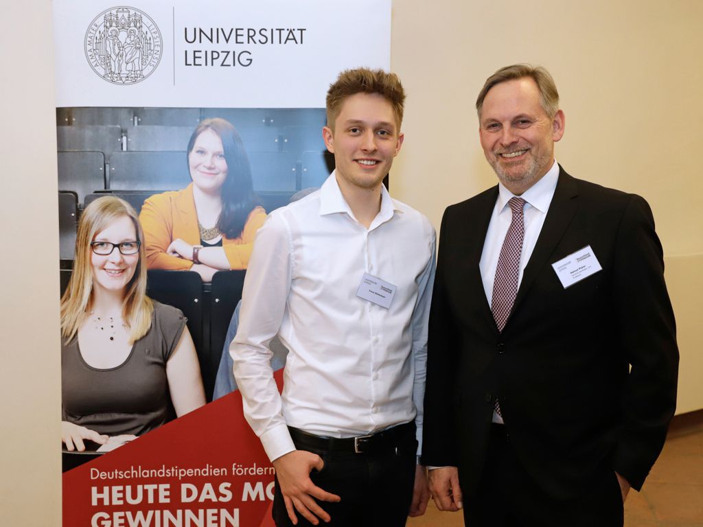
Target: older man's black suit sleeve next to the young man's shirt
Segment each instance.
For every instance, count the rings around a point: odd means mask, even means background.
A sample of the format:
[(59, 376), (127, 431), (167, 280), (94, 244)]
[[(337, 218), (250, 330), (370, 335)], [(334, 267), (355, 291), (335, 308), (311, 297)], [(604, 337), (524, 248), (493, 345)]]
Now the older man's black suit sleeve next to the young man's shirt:
[(439, 255), (434, 277), (427, 338), (427, 381), (423, 416), (423, 457), (426, 466), (458, 466), (455, 374), (458, 332), (447, 295), (447, 252), (451, 251), (451, 207), (439, 231)]

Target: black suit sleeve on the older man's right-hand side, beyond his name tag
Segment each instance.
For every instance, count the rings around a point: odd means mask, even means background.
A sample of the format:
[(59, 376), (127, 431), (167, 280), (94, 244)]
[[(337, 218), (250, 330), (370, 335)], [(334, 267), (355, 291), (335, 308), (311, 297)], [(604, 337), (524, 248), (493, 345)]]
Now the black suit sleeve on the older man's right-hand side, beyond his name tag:
[(614, 469), (640, 490), (662, 450), (676, 409), (676, 323), (664, 282), (664, 254), (647, 202), (633, 195), (614, 256), (619, 346), (631, 365), (621, 393), (622, 428)]

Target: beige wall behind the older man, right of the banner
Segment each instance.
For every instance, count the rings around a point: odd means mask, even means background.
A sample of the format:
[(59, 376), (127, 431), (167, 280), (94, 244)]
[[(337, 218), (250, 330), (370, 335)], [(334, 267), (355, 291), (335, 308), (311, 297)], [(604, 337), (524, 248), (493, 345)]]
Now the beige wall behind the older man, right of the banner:
[[(536, 8), (537, 7), (537, 8)], [(678, 320), (678, 412), (703, 408), (703, 2), (394, 2), (392, 67), (408, 99), (391, 192), (439, 228), (444, 208), (496, 184), (474, 103), (499, 67), (553, 74), (566, 114), (557, 160), (643, 195)]]

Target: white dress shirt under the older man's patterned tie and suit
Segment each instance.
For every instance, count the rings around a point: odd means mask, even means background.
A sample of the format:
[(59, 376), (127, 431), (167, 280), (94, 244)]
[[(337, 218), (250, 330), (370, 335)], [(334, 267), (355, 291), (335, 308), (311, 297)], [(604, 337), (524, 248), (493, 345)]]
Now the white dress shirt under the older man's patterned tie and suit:
[[(527, 201), (527, 203), (524, 206), (525, 230), (524, 239), (522, 240), (522, 253), (520, 254), (520, 274), (517, 277), (518, 288), (522, 282), (524, 268), (527, 266), (530, 256), (532, 256), (537, 238), (539, 238), (539, 233), (541, 233), (544, 219), (547, 217), (549, 205), (554, 197), (554, 190), (557, 188), (558, 178), (559, 165), (555, 161), (547, 173), (520, 196)], [(481, 279), (489, 306), (491, 306), (491, 301), (493, 299), (493, 285), (496, 280), (498, 256), (501, 255), (503, 240), (505, 240), (505, 235), (508, 233), (508, 228), (512, 221), (512, 212), (508, 206), (508, 201), (510, 201), (512, 197), (515, 197), (515, 194), (505, 188), (503, 183), (498, 183), (498, 200), (496, 200), (496, 207), (494, 207), (493, 214), (491, 215), (491, 223), (489, 223), (488, 230), (486, 231), (486, 241), (484, 242), (481, 261), (479, 263)], [(503, 422), (503, 418), (495, 411), (493, 414), (493, 422)]]

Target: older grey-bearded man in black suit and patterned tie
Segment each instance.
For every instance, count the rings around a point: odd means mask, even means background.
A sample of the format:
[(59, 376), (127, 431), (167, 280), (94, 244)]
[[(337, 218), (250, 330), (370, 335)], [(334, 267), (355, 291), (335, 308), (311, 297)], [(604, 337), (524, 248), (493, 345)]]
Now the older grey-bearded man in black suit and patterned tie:
[(555, 162), (558, 104), (541, 67), (489, 77), (476, 106), (499, 184), (441, 223), (423, 464), (467, 526), (621, 526), (676, 405), (652, 212)]

